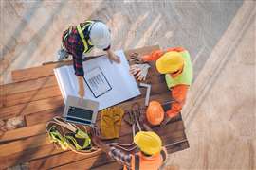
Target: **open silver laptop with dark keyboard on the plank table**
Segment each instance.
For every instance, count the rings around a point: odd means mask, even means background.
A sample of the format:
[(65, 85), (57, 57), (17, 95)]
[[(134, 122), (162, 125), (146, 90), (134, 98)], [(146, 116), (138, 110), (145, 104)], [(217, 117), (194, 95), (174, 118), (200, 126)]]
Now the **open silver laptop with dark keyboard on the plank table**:
[(67, 122), (95, 127), (99, 102), (68, 95), (64, 107)]

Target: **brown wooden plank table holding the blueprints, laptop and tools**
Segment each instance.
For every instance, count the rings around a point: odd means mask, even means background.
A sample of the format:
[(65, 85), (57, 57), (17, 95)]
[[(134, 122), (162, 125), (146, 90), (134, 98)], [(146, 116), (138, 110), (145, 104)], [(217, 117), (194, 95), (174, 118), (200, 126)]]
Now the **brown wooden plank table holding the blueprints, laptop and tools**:
[[(143, 47), (125, 51), (126, 57), (132, 52), (147, 54), (159, 49), (159, 46)], [(101, 150), (90, 155), (79, 155), (71, 151), (63, 151), (51, 144), (46, 136), (46, 122), (56, 115), (62, 115), (64, 101), (53, 68), (62, 63), (50, 63), (43, 66), (17, 70), (12, 72), (13, 83), (0, 86), (0, 119), (9, 119), (22, 115), (26, 126), (9, 130), (0, 136), (0, 169), (19, 163), (28, 162), (30, 169), (119, 169), (121, 166), (111, 160)], [(155, 70), (151, 63), (149, 75), (145, 83), (152, 85), (150, 100), (161, 103), (170, 101), (164, 76)], [(144, 103), (145, 88), (141, 95), (119, 104), (124, 110), (130, 109), (135, 102)], [(184, 131), (181, 115), (165, 127), (155, 127), (161, 136), (168, 153), (174, 153), (189, 147)], [(120, 137), (117, 142), (132, 141), (132, 129), (122, 123)]]

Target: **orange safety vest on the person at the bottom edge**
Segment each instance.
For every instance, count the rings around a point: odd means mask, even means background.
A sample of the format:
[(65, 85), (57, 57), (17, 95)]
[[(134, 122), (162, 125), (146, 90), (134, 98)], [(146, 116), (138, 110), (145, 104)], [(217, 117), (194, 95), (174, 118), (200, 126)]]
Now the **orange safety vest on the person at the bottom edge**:
[[(158, 170), (167, 158), (167, 151), (165, 147), (162, 148), (160, 153), (152, 157), (146, 157), (141, 152), (132, 155), (131, 169), (132, 170)], [(123, 166), (123, 170), (127, 170)]]

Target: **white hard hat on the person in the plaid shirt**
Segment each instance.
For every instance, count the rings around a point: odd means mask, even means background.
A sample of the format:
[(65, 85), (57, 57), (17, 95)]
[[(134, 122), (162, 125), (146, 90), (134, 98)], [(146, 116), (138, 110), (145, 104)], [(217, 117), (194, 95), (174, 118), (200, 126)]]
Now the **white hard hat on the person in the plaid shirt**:
[(92, 25), (90, 39), (97, 48), (105, 49), (111, 43), (111, 36), (108, 26), (102, 22), (96, 22)]

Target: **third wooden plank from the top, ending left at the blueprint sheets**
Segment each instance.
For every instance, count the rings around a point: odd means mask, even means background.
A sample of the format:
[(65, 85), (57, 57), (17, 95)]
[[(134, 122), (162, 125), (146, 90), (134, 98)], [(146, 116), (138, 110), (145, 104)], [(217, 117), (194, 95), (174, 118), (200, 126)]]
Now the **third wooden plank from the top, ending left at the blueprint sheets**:
[(24, 93), (13, 93), (5, 96), (2, 107), (14, 106), (60, 95), (61, 91), (58, 86), (51, 86)]

